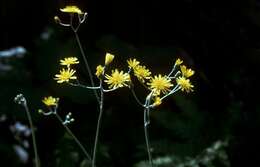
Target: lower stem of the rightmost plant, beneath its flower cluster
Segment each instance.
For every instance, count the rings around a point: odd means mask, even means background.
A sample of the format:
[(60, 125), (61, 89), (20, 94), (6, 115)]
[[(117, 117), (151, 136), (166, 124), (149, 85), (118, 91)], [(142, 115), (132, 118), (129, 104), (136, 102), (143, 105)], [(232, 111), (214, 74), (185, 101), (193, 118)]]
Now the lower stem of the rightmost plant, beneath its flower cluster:
[(145, 135), (146, 149), (147, 149), (148, 158), (149, 158), (149, 164), (151, 167), (153, 167), (152, 154), (150, 151), (150, 142), (149, 142), (149, 135), (148, 135), (149, 123), (147, 122), (147, 116), (148, 116), (148, 113), (150, 112), (149, 110), (150, 110), (150, 108), (144, 109), (144, 135)]

